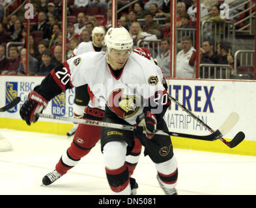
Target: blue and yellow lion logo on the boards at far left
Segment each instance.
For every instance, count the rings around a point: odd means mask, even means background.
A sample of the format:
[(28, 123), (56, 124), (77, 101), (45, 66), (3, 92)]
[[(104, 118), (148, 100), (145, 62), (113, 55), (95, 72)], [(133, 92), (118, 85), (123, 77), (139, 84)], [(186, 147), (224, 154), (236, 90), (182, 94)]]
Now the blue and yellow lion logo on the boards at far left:
[[(6, 90), (5, 90), (5, 104), (7, 105), (12, 101), (14, 98), (16, 98), (18, 95), (18, 83), (6, 83)], [(16, 112), (17, 111), (17, 105), (14, 106), (12, 109), (7, 110), (7, 112)]]

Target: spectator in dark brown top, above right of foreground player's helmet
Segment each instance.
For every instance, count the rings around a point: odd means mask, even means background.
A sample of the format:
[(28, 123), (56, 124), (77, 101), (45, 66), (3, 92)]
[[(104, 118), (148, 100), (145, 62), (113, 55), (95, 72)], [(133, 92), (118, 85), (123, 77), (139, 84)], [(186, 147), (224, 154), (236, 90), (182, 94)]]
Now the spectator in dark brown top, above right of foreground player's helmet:
[(162, 38), (162, 28), (153, 20), (150, 12), (145, 15), (145, 25), (142, 27), (143, 32), (155, 34), (158, 39)]

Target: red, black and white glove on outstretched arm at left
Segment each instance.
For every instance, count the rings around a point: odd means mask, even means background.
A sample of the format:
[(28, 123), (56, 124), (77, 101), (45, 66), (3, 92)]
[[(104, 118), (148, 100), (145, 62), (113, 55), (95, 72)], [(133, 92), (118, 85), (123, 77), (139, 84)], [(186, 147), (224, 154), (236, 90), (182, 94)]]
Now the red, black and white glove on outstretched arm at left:
[(38, 116), (36, 114), (42, 112), (48, 105), (48, 101), (40, 96), (35, 91), (29, 92), (29, 98), (25, 101), (25, 103), (20, 108), (20, 116), (27, 125), (31, 125), (31, 123), (35, 123), (38, 120)]

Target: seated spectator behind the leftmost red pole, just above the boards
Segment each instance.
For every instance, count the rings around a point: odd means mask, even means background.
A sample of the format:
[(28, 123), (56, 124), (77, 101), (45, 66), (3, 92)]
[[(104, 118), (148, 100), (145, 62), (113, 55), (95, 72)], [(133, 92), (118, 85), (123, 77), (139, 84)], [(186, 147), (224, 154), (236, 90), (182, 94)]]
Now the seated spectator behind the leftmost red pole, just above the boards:
[(18, 68), (18, 75), (35, 75), (37, 72), (38, 60), (29, 55), (29, 68), (27, 69), (27, 49), (23, 48), (20, 51), (21, 62)]

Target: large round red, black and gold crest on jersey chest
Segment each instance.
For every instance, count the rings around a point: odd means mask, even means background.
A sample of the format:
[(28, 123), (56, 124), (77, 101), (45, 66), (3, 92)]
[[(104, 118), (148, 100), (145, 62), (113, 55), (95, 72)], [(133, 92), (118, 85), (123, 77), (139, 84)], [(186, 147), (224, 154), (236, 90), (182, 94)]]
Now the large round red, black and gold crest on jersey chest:
[(130, 118), (139, 110), (139, 98), (135, 95), (123, 94), (124, 89), (117, 89), (111, 92), (107, 98), (108, 107), (120, 118)]

